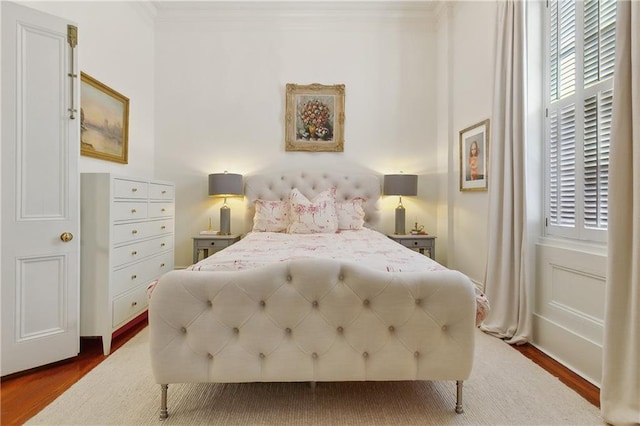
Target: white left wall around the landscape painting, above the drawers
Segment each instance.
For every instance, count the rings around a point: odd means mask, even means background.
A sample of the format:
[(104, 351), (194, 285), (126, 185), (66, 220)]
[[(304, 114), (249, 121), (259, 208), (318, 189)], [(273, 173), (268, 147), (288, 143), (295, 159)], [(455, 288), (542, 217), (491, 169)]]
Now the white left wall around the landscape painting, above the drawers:
[(80, 157), (80, 172), (154, 174), (153, 10), (140, 2), (20, 2), (78, 26), (79, 70), (123, 94), (129, 103), (129, 163)]

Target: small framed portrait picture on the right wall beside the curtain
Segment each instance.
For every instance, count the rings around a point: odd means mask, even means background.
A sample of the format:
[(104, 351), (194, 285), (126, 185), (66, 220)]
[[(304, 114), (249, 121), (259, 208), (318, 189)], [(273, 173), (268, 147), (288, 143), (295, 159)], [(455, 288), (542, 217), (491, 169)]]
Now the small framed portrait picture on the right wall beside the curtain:
[(486, 191), (489, 119), (460, 132), (460, 191)]

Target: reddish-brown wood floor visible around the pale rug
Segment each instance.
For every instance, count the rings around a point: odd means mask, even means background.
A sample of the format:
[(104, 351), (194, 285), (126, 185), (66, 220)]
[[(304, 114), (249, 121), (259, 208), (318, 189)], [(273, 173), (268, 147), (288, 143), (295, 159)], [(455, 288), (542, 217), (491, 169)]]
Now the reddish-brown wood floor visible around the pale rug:
[[(147, 323), (146, 316), (139, 317), (127, 330), (114, 336), (111, 352), (124, 345)], [(75, 358), (3, 377), (0, 383), (1, 424), (23, 424), (106, 358), (99, 339), (82, 339), (80, 346), (80, 354)], [(531, 345), (514, 346), (514, 349), (558, 377), (591, 404), (600, 407), (600, 389), (596, 386)]]

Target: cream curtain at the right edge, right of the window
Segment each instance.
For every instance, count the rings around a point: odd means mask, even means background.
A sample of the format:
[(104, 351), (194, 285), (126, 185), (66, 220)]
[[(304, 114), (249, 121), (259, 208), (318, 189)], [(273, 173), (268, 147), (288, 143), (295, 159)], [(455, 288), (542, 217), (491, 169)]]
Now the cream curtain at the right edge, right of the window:
[(640, 424), (640, 3), (618, 2), (602, 417)]

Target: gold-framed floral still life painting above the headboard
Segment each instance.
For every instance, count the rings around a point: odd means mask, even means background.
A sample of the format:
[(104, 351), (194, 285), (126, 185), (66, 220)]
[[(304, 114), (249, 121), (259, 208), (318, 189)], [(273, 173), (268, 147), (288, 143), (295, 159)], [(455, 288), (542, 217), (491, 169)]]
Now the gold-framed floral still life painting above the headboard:
[(344, 151), (344, 84), (287, 84), (287, 151)]

